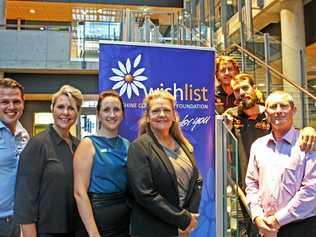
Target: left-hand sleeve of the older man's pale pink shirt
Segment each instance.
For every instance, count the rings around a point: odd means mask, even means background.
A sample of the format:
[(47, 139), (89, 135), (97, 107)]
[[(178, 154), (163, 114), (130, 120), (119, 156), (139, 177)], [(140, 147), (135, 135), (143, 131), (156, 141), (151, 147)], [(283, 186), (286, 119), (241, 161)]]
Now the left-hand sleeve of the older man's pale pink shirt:
[(247, 202), (251, 211), (251, 219), (263, 216), (261, 207), (261, 196), (259, 192), (259, 168), (255, 156), (255, 144), (251, 146), (248, 169), (246, 174), (246, 193)]

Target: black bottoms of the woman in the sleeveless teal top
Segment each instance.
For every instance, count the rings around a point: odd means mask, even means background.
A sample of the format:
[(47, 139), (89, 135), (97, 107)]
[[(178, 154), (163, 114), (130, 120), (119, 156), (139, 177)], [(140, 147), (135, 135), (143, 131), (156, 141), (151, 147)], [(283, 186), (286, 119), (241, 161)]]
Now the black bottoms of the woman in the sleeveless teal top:
[[(126, 193), (89, 193), (93, 215), (102, 237), (129, 237), (130, 208)], [(76, 237), (88, 236), (83, 224)]]

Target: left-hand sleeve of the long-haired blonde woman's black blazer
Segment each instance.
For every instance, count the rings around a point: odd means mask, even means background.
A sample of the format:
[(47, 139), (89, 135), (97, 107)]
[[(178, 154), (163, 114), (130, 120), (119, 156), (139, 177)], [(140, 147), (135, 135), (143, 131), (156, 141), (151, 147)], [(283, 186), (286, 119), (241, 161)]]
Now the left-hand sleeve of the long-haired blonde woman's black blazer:
[(128, 150), (127, 171), (130, 189), (138, 205), (163, 222), (184, 230), (191, 214), (170, 204), (155, 188), (146, 151), (139, 143)]

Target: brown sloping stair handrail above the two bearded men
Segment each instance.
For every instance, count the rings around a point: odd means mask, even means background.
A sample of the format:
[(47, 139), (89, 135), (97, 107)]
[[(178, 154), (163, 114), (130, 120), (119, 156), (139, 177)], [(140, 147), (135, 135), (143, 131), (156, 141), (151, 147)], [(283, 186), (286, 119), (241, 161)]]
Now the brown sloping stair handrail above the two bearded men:
[(284, 81), (288, 82), (289, 84), (291, 84), (292, 86), (294, 86), (296, 89), (302, 91), (303, 93), (305, 93), (306, 95), (308, 95), (309, 97), (311, 97), (313, 100), (316, 100), (316, 96), (313, 95), (312, 93), (310, 93), (308, 90), (306, 90), (305, 88), (301, 87), (300, 85), (298, 85), (296, 82), (288, 79), (284, 74), (282, 74), (281, 72), (279, 72), (277, 69), (275, 69), (274, 67), (271, 67), (270, 65), (266, 64), (264, 61), (262, 61), (260, 58), (258, 58), (255, 54), (253, 54), (252, 52), (250, 52), (247, 49), (242, 48), (240, 45), (238, 44), (232, 44), (231, 46), (229, 46), (228, 48), (226, 48), (224, 51), (230, 51), (232, 48), (237, 48), (238, 50), (240, 50), (241, 52), (247, 54), (248, 56), (250, 56), (251, 58), (255, 59), (256, 62), (258, 62), (258, 64), (260, 64), (261, 66), (263, 66), (266, 69), (271, 70), (271, 72), (273, 72), (274, 74), (276, 74), (279, 78), (283, 79)]

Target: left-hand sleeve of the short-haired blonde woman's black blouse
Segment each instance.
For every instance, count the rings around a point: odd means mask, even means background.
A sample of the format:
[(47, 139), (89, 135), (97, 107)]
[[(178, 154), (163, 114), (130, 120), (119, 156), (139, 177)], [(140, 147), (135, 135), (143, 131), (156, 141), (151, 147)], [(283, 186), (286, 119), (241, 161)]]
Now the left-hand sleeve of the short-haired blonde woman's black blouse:
[(15, 220), (18, 224), (38, 221), (39, 191), (46, 152), (43, 144), (33, 138), (22, 151), (15, 190)]

